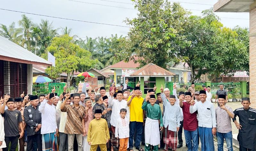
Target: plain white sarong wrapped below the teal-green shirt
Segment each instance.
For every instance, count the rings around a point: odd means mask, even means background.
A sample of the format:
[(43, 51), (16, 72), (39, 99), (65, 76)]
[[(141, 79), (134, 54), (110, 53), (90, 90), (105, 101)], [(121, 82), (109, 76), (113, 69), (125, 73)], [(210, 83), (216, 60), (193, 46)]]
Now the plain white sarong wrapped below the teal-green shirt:
[(156, 146), (160, 144), (160, 130), (159, 123), (157, 119), (146, 119), (145, 123), (145, 144)]

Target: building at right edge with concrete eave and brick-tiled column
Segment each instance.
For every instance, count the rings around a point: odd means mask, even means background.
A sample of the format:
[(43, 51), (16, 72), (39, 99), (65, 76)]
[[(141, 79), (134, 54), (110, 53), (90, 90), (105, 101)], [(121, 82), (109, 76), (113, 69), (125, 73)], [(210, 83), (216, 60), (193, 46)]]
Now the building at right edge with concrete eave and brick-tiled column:
[[(249, 12), (249, 55), (250, 55), (250, 99), (255, 100), (256, 96), (253, 95), (256, 91), (256, 64), (253, 60), (256, 60), (256, 1), (244, 1), (244, 0), (219, 0), (213, 5), (213, 11), (215, 12)], [(256, 107), (256, 102), (252, 101), (252, 108)]]

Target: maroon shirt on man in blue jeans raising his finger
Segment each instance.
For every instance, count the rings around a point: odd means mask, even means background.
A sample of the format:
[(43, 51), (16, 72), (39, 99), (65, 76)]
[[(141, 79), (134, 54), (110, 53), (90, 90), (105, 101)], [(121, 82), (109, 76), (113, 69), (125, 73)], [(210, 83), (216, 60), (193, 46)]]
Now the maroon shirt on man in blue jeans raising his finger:
[(182, 102), (183, 107), (183, 128), (187, 131), (195, 131), (198, 127), (198, 121), (196, 119), (197, 111), (191, 114), (189, 112), (190, 103)]

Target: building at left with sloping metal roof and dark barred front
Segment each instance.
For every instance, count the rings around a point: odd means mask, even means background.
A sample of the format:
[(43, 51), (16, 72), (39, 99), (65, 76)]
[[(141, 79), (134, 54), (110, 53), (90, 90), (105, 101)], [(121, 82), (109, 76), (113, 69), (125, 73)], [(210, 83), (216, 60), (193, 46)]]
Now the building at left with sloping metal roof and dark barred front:
[(52, 64), (14, 42), (0, 36), (0, 95), (32, 94), (33, 64)]

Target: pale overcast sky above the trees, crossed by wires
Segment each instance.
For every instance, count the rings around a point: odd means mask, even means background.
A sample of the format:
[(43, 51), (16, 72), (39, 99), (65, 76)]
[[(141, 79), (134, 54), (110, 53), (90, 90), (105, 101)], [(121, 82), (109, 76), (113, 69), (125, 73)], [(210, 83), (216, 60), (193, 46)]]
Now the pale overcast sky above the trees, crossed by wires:
[[(80, 3), (80, 2), (85, 3)], [(109, 0), (122, 3), (108, 2), (108, 0), (5, 0), (1, 2), (0, 9), (9, 9), (13, 11), (23, 11), (28, 13), (35, 13), (47, 16), (55, 16), (60, 18), (76, 19), (97, 23), (113, 24), (120, 26), (127, 26), (123, 21), (127, 18), (136, 17), (137, 11), (134, 10), (132, 2), (130, 0)], [(178, 0), (172, 0), (178, 2)], [(218, 0), (183, 0), (179, 1), (180, 4), (188, 9), (194, 15), (200, 15), (201, 11), (196, 10), (205, 10), (213, 7)], [(198, 3), (198, 4), (188, 4), (189, 3)], [(94, 3), (94, 4), (88, 4)], [(123, 4), (129, 3), (129, 4)], [(116, 7), (102, 6), (102, 5), (111, 5)], [(208, 5), (202, 5), (208, 4)], [(124, 8), (117, 8), (124, 7)], [(130, 9), (125, 9), (130, 8)], [(0, 10), (0, 23), (4, 25), (9, 25), (11, 22), (21, 19), (23, 13), (12, 12)], [(220, 16), (221, 23), (224, 26), (233, 28), (236, 25), (242, 27), (249, 27), (249, 13), (216, 13)], [(26, 14), (34, 23), (40, 23), (41, 19), (47, 19), (53, 22), (55, 28), (65, 27), (72, 28), (72, 34), (76, 34), (79, 37), (110, 37), (111, 34), (126, 35), (129, 31), (128, 27), (120, 26), (110, 26), (110, 25), (101, 25), (94, 23), (78, 22), (73, 20), (65, 19), (56, 19), (44, 16), (36, 16), (32, 14)], [(233, 19), (231, 19), (233, 18)], [(17, 24), (18, 26), (18, 24)]]

